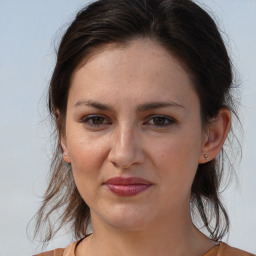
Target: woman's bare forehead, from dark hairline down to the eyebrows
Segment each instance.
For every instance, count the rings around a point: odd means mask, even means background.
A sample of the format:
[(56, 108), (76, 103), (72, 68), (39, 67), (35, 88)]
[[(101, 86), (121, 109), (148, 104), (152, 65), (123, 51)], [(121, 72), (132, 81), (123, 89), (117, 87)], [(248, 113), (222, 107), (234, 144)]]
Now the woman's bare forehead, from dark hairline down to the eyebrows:
[(70, 98), (183, 100), (192, 90), (191, 79), (176, 58), (159, 43), (140, 39), (105, 45), (86, 56), (72, 76)]

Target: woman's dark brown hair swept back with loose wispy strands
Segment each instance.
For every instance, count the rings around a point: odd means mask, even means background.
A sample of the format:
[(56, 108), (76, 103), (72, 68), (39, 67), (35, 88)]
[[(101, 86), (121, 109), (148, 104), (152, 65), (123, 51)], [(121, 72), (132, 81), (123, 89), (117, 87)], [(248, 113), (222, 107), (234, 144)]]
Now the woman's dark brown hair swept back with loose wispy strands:
[[(65, 134), (71, 76), (78, 64), (97, 48), (110, 43), (125, 45), (143, 38), (158, 42), (183, 65), (199, 96), (204, 127), (221, 108), (229, 109), (236, 116), (230, 58), (215, 22), (196, 3), (191, 0), (98, 0), (86, 6), (62, 37), (49, 85), (48, 107), (55, 123), (56, 147), (48, 188), (35, 225), (35, 236), (46, 228), (44, 242), (66, 224), (71, 225), (75, 238), (84, 237), (90, 223), (90, 209), (76, 188), (72, 166), (62, 159), (60, 144)], [(229, 229), (229, 218), (220, 200), (223, 167), (228, 161), (225, 156), (222, 149), (216, 159), (199, 164), (191, 188), (191, 214), (200, 217), (209, 237), (215, 241)]]

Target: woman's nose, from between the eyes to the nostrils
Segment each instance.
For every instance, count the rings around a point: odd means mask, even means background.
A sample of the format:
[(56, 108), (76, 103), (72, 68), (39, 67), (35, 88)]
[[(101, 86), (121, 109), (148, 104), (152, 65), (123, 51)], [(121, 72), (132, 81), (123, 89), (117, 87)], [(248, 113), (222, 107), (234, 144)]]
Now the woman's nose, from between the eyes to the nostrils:
[(120, 169), (142, 164), (142, 135), (132, 127), (120, 127), (113, 132), (108, 160)]

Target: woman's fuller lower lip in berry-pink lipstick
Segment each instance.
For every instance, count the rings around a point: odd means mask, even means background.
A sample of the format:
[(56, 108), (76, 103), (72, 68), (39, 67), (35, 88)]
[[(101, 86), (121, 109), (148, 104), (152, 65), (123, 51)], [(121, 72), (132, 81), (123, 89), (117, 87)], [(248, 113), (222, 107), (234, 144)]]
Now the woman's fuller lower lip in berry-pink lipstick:
[(108, 189), (118, 195), (118, 196), (135, 196), (146, 189), (148, 189), (151, 184), (131, 184), (131, 185), (115, 185), (106, 184)]

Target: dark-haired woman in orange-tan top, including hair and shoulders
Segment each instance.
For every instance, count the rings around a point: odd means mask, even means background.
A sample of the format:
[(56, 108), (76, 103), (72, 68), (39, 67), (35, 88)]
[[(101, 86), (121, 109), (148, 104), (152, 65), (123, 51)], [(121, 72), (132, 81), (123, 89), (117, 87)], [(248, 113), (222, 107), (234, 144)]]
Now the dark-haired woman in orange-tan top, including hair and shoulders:
[(216, 25), (190, 0), (79, 12), (50, 83), (58, 140), (36, 226), (48, 224), (49, 241), (71, 224), (78, 241), (40, 255), (252, 255), (221, 242), (231, 86)]

